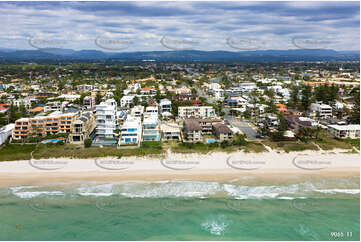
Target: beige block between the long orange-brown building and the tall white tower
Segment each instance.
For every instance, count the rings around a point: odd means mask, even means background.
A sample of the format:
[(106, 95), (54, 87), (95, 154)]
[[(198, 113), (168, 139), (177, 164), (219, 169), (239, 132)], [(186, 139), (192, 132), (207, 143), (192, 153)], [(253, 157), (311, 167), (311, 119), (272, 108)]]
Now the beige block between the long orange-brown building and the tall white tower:
[(92, 138), (96, 122), (93, 112), (84, 112), (72, 123), (68, 141), (71, 144), (83, 144), (84, 140)]

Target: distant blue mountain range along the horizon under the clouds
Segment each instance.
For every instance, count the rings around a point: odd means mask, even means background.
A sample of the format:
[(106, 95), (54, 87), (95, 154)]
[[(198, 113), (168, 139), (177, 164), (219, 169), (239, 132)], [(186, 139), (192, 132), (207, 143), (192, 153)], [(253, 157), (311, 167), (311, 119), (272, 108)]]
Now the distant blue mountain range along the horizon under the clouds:
[(16, 50), (0, 48), (1, 63), (54, 61), (288, 62), (359, 60), (359, 51), (335, 51), (331, 49), (255, 50), (239, 52), (200, 50), (103, 52), (99, 50)]

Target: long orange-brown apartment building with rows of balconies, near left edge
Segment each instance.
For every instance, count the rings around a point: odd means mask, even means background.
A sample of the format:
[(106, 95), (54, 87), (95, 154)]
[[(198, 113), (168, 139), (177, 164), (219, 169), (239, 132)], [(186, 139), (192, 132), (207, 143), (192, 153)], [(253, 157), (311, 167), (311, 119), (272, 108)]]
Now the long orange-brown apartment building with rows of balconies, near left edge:
[(18, 119), (15, 121), (12, 138), (20, 140), (29, 137), (70, 133), (75, 116), (76, 113), (53, 112), (48, 116)]

